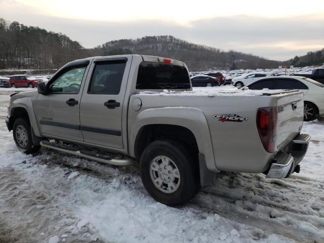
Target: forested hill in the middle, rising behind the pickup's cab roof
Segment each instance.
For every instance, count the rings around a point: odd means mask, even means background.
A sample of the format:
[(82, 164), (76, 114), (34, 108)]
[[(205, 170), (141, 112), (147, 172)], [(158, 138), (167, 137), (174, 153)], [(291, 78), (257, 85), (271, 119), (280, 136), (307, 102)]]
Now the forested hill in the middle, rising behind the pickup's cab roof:
[(282, 62), (272, 61), (251, 54), (192, 44), (171, 35), (145, 36), (138, 39), (119, 39), (91, 50), (96, 55), (144, 54), (169, 57), (184, 61), (189, 70), (209, 68), (275, 68)]

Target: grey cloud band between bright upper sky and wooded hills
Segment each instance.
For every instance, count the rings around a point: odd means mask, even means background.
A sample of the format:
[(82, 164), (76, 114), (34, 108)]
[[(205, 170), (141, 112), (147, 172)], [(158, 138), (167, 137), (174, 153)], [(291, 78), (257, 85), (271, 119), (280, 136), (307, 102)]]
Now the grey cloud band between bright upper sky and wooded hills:
[(179, 24), (157, 19), (93, 21), (58, 18), (42, 15), (33, 8), (15, 2), (10, 5), (0, 2), (0, 17), (65, 33), (87, 48), (114, 39), (164, 34), (192, 43), (253, 53), (276, 60), (287, 60), (324, 48), (322, 13), (276, 18), (236, 15)]

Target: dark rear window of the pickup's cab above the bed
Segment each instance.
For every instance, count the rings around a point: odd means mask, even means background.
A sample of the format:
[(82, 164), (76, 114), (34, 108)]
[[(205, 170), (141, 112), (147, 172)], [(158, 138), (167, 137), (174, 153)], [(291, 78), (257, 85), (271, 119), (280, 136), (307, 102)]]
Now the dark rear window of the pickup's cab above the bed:
[(190, 77), (183, 66), (169, 63), (141, 62), (136, 89), (190, 89)]

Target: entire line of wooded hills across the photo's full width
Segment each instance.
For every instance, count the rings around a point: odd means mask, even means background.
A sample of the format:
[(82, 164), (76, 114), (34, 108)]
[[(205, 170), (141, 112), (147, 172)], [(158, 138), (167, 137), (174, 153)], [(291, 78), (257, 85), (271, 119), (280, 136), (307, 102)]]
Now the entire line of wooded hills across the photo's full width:
[(322, 64), (324, 49), (281, 62), (252, 54), (188, 43), (171, 35), (119, 39), (93, 49), (85, 49), (62, 33), (48, 32), (0, 18), (0, 69), (55, 69), (65, 63), (90, 56), (143, 54), (184, 61), (189, 70), (276, 68), (282, 65)]

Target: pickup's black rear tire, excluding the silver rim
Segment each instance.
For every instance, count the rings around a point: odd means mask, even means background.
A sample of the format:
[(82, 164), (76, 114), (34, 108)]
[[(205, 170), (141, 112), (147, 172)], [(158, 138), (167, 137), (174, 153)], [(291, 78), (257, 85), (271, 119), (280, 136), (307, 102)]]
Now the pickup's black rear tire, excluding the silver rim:
[[(167, 156), (177, 166), (180, 173), (179, 187), (166, 193), (155, 187), (151, 179), (150, 165), (157, 156)], [(156, 140), (150, 143), (140, 158), (140, 174), (145, 189), (159, 203), (177, 206), (190, 201), (200, 189), (199, 166), (190, 149), (169, 140)], [(170, 173), (170, 172), (169, 172)], [(170, 178), (169, 178), (170, 179)]]

